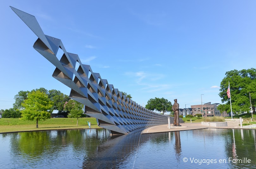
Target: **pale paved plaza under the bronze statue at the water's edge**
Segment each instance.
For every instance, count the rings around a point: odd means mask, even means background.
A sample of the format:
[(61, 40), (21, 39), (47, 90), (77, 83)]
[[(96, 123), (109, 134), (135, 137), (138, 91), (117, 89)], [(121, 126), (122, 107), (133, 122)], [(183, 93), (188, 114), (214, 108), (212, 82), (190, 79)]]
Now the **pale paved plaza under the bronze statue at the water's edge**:
[(209, 127), (205, 125), (201, 125), (201, 123), (182, 123), (181, 127), (174, 127), (171, 124), (171, 128), (168, 128), (168, 125), (157, 125), (153, 127), (148, 127), (141, 132), (141, 134), (147, 133), (160, 133), (160, 132), (169, 132), (169, 131), (184, 131), (184, 130), (196, 130), (196, 129), (207, 129), (207, 128), (224, 128), (224, 129), (232, 129), (232, 128), (240, 128), (239, 125), (229, 125), (228, 127)]

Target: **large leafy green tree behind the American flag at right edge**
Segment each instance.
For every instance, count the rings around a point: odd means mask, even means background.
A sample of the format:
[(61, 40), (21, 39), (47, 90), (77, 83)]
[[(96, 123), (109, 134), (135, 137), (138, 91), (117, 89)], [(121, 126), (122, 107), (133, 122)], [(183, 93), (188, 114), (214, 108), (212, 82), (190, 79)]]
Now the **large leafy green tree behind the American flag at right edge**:
[(222, 103), (226, 102), (224, 109), (230, 112), (230, 99), (227, 96), (228, 81), (230, 82), (232, 111), (237, 114), (238, 112), (247, 111), (250, 113), (250, 98), (253, 107), (253, 113), (255, 113), (256, 106), (256, 69), (243, 69), (232, 70), (225, 73), (226, 77), (222, 79), (221, 89), (219, 96), (222, 98)]

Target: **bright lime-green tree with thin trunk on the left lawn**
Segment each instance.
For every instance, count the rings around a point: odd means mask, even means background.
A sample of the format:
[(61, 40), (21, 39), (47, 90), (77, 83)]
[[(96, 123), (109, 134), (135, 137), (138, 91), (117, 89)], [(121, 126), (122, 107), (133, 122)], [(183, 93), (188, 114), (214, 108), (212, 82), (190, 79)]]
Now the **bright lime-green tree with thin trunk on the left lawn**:
[(39, 90), (28, 93), (28, 99), (22, 103), (22, 118), (27, 120), (36, 120), (36, 128), (38, 128), (38, 120), (51, 118), (51, 114), (47, 112), (53, 107), (47, 94)]

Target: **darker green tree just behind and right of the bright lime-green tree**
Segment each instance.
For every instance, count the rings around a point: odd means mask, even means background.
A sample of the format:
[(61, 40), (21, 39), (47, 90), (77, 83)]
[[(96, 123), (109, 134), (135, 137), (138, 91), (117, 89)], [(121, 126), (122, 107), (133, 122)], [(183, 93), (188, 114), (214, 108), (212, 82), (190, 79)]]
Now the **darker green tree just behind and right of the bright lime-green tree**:
[(70, 98), (61, 93), (59, 90), (49, 90), (48, 97), (53, 102), (53, 108), (50, 109), (50, 113), (53, 113), (53, 110), (58, 110), (59, 112), (63, 111), (63, 105), (65, 102), (68, 102)]

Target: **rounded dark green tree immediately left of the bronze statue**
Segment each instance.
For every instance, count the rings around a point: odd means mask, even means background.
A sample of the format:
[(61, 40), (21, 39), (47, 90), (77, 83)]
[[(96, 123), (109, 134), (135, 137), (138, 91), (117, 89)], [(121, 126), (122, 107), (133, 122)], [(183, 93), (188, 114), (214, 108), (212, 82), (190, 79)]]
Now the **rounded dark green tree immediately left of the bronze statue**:
[(169, 104), (166, 106), (166, 111), (169, 111), (169, 112), (172, 111), (172, 103), (163, 97), (162, 98), (155, 97), (154, 99), (149, 99), (149, 101), (147, 101), (147, 105), (145, 106), (145, 108), (149, 110), (156, 109), (157, 111), (165, 112), (165, 106), (162, 104), (165, 104), (165, 105)]

